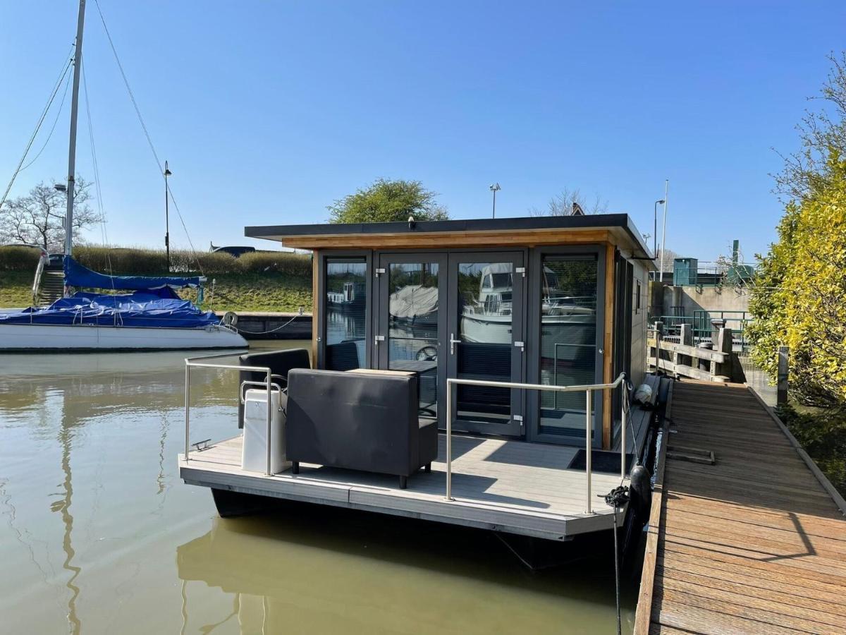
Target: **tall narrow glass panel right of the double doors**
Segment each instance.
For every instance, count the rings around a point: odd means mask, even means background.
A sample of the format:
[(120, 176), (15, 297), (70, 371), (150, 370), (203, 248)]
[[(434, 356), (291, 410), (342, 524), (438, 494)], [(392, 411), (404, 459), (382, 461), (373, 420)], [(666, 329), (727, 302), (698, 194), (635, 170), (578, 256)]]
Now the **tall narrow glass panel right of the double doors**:
[[(569, 386), (595, 384), (601, 373), (597, 331), (602, 306), (600, 262), (595, 254), (540, 257), (540, 286), (532, 314), (540, 322), (540, 383)], [(584, 443), (585, 393), (541, 392), (537, 433), (547, 440)], [(594, 443), (601, 410), (601, 394), (591, 404)]]

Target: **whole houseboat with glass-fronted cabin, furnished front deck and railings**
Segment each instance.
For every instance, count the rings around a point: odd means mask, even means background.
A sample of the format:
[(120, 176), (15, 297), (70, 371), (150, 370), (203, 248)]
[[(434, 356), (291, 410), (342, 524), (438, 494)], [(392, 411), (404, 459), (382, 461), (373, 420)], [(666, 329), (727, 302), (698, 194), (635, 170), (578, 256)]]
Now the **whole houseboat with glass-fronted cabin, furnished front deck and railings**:
[[(602, 496), (643, 461), (654, 412), (631, 387), (660, 392), (655, 267), (626, 214), (245, 235), (312, 251), (313, 333), (308, 351), (186, 360), (180, 476), (222, 516), (272, 497), (558, 541), (623, 522)], [(230, 439), (196, 444), (190, 376), (208, 367), (240, 373), (240, 413)]]

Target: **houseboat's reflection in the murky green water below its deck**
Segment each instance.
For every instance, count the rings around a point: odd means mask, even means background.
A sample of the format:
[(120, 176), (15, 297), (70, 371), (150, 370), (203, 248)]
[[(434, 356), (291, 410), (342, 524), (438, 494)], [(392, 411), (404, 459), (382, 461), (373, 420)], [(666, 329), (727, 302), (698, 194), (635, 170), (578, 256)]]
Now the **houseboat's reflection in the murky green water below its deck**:
[[(236, 616), (242, 633), (613, 628), (607, 566), (532, 574), (492, 534), (459, 527), (285, 503), (270, 516), (216, 518), (176, 557), (190, 583), (186, 632)], [(205, 587), (231, 601), (198, 610)]]

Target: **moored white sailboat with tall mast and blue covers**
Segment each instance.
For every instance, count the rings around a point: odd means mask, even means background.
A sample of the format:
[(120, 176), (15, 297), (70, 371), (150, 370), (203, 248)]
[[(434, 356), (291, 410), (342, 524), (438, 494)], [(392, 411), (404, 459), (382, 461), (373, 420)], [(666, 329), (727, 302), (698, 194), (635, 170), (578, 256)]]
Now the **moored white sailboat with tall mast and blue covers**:
[[(168, 349), (247, 348), (247, 341), (214, 313), (203, 312), (176, 290), (199, 288), (202, 277), (114, 276), (85, 268), (70, 256), (73, 249), (76, 124), (80, 101), (82, 32), (85, 0), (80, 0), (70, 109), (68, 208), (63, 256), (64, 297), (50, 306), (0, 314), (0, 351), (151, 351)], [(36, 279), (49, 257), (42, 256)], [(108, 290), (91, 293), (80, 289)], [(129, 291), (130, 293), (118, 293)]]

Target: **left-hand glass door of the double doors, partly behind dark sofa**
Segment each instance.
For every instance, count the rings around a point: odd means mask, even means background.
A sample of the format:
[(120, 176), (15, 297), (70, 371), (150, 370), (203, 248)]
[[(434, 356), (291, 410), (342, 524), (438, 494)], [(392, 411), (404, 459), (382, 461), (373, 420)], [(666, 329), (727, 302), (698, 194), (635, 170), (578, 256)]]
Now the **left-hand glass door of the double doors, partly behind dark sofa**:
[(415, 373), (420, 417), (437, 418), (445, 258), (439, 254), (382, 254), (379, 264), (378, 367)]

